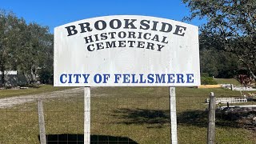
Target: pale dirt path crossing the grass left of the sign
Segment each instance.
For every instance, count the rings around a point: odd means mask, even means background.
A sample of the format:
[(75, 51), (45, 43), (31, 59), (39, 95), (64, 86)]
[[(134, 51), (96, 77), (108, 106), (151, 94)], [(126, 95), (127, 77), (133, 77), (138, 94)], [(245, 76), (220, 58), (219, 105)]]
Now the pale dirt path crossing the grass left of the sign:
[[(91, 88), (92, 89), (92, 88)], [(49, 98), (62, 98), (62, 97), (74, 97), (78, 96), (78, 94), (83, 94), (83, 87), (69, 89), (69, 90), (61, 90), (61, 91), (54, 91), (45, 94), (30, 94), (30, 95), (22, 95), (18, 97), (12, 98), (2, 98), (0, 99), (0, 109), (6, 107), (12, 107), (15, 105), (20, 105), (26, 102), (34, 102), (38, 98), (42, 99), (49, 99)]]

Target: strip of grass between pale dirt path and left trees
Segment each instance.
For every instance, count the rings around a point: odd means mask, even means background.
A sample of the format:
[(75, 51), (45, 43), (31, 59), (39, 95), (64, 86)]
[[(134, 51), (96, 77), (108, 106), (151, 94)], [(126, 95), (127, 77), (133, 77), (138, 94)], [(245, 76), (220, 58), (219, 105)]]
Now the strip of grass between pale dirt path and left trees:
[(9, 98), (14, 96), (20, 96), (20, 95), (27, 95), (27, 94), (42, 94), (46, 92), (52, 92), (56, 90), (66, 90), (70, 89), (72, 87), (54, 87), (52, 85), (40, 85), (35, 88), (29, 88), (29, 89), (7, 89), (7, 90), (0, 90), (0, 98)]

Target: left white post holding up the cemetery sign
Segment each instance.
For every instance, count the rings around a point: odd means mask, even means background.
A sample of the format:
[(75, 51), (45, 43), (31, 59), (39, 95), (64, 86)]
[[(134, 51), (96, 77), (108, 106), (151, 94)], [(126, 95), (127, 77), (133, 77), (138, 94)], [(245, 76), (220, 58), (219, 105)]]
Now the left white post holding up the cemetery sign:
[(84, 144), (90, 144), (90, 87), (85, 87)]

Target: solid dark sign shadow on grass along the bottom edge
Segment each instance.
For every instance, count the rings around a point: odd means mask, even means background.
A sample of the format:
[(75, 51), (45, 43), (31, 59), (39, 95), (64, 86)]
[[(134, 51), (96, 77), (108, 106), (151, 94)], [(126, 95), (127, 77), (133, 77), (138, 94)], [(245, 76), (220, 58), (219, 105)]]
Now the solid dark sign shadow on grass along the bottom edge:
[[(46, 135), (46, 143), (47, 144), (83, 144), (83, 134), (48, 134)], [(38, 136), (39, 138), (39, 136)], [(40, 138), (39, 138), (40, 140)], [(138, 144), (134, 140), (126, 137), (115, 137), (109, 135), (90, 135), (90, 143), (91, 144)]]

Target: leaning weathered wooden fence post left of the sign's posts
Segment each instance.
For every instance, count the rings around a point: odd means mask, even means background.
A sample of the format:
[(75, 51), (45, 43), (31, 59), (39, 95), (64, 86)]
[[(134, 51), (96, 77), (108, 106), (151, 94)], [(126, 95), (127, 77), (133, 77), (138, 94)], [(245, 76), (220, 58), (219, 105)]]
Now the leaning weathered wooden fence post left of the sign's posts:
[(46, 126), (45, 126), (45, 118), (43, 116), (42, 99), (38, 99), (38, 122), (39, 122), (40, 143), (46, 144)]

